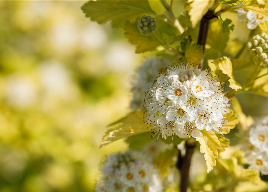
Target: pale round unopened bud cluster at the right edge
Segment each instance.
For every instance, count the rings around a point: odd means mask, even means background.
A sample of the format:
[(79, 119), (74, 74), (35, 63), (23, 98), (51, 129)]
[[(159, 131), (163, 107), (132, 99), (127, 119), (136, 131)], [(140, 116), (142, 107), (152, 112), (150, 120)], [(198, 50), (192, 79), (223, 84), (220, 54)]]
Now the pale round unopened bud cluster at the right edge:
[(268, 65), (268, 35), (266, 33), (255, 35), (252, 41), (247, 42), (246, 46), (250, 50), (251, 55), (256, 55), (264, 64)]

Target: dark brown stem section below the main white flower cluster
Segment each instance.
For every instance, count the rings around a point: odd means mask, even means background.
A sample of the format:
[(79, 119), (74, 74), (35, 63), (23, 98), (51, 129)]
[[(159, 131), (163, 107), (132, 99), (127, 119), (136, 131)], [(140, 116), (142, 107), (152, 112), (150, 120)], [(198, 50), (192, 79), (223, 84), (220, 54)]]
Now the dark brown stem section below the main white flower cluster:
[(181, 186), (180, 191), (186, 192), (189, 182), (189, 170), (191, 165), (192, 155), (194, 153), (195, 143), (185, 143), (186, 153), (185, 156), (179, 159), (177, 167), (180, 169), (181, 172)]

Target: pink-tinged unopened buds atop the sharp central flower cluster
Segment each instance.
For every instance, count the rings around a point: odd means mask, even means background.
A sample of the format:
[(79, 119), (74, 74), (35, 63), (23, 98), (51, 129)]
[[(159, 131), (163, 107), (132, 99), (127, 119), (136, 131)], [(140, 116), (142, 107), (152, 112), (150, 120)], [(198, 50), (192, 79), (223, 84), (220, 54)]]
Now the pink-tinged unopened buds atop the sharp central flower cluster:
[(200, 74), (200, 69), (187, 70), (185, 73), (179, 73), (179, 75), (172, 75), (171, 81), (179, 80), (186, 88), (190, 88), (193, 81)]

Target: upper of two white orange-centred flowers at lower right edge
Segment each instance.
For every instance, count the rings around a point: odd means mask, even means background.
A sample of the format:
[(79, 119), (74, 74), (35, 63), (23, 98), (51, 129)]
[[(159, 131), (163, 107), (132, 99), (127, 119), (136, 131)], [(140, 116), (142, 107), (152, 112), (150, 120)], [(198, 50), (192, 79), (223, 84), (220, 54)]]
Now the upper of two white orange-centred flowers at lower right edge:
[(258, 125), (249, 131), (249, 141), (256, 148), (268, 152), (268, 126)]

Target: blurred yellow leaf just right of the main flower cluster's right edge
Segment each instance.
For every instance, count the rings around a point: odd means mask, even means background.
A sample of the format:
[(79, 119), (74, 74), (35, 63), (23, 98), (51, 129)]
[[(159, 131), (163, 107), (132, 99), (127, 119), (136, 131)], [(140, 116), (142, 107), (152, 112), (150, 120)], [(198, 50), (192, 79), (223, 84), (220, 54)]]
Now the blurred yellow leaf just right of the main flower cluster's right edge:
[(251, 116), (246, 116), (241, 108), (241, 105), (239, 104), (239, 101), (236, 97), (232, 98), (232, 106), (234, 112), (238, 115), (239, 123), (241, 125), (241, 128), (243, 130), (247, 130), (248, 127), (250, 127), (253, 124), (253, 118)]

